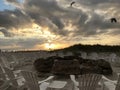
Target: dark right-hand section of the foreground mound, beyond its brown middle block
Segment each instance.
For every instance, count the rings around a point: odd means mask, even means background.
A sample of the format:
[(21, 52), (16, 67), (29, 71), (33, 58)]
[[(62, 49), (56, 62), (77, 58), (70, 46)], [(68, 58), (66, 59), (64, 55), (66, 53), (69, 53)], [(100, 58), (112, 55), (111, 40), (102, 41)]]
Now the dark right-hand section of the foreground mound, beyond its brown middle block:
[(81, 74), (86, 73), (97, 73), (103, 75), (111, 75), (112, 68), (109, 62), (100, 60), (90, 60), (90, 59), (79, 59)]

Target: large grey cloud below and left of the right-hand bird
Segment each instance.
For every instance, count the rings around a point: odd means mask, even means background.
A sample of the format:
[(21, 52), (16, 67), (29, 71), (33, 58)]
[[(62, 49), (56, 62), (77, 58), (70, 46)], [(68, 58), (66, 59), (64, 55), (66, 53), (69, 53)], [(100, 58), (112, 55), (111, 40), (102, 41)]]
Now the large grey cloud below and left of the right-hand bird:
[[(86, 13), (81, 15), (79, 21), (76, 23), (78, 29), (75, 30), (74, 36), (85, 35), (89, 37), (107, 33), (109, 29), (120, 28), (119, 23), (111, 23), (110, 19), (105, 20), (105, 17), (96, 13), (92, 13), (90, 20), (85, 24), (87, 19), (88, 15)], [(99, 32), (97, 32), (98, 29)]]

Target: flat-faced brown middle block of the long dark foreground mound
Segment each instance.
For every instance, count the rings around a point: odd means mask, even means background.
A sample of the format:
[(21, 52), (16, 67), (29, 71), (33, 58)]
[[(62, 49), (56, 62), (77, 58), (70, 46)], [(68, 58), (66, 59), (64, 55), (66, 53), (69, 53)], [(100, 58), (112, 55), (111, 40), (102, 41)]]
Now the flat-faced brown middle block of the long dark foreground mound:
[(55, 60), (51, 72), (56, 75), (80, 74), (78, 60)]

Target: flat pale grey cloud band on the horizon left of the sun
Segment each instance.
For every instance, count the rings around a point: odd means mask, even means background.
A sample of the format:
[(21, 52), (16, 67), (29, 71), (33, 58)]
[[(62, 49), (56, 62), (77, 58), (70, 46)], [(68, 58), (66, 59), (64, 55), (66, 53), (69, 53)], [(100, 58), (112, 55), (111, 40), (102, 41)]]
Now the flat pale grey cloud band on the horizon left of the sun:
[[(28, 38), (28, 39), (3, 39), (0, 38), (0, 47), (5, 47), (2, 49), (31, 49), (33, 48), (35, 45), (39, 44), (43, 44), (45, 41), (45, 39), (35, 39), (35, 38)], [(9, 46), (7, 48), (7, 46)], [(17, 47), (15, 47), (17, 46)]]

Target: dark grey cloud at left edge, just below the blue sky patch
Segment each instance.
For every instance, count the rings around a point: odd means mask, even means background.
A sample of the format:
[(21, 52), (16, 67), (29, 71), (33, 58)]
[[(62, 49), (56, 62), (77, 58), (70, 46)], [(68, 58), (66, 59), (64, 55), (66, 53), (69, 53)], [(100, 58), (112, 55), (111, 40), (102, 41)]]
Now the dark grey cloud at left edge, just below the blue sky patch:
[(0, 11), (0, 26), (2, 27), (19, 28), (24, 27), (30, 22), (31, 19), (28, 16), (22, 14), (18, 9), (15, 9), (14, 11)]

